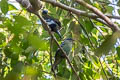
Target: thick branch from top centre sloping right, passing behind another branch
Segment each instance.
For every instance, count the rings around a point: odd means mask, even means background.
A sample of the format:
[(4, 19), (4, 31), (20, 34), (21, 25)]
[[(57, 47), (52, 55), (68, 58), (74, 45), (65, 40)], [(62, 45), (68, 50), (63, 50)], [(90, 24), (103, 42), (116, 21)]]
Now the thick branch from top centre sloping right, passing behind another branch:
[[(41, 1), (50, 3), (54, 6), (62, 8), (64, 10), (70, 11), (70, 12), (72, 12), (72, 13), (78, 15), (78, 16), (85, 16), (85, 17), (89, 17), (89, 18), (93, 18), (93, 19), (94, 18), (100, 18), (99, 16), (97, 16), (94, 13), (88, 13), (86, 11), (78, 10), (78, 9), (73, 8), (73, 7), (67, 6), (65, 4), (56, 2), (55, 0), (41, 0)], [(106, 15), (106, 16), (109, 17), (109, 18), (120, 19), (120, 16), (112, 16), (112, 15)]]

